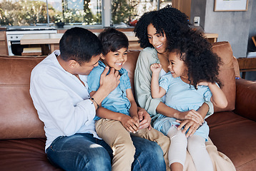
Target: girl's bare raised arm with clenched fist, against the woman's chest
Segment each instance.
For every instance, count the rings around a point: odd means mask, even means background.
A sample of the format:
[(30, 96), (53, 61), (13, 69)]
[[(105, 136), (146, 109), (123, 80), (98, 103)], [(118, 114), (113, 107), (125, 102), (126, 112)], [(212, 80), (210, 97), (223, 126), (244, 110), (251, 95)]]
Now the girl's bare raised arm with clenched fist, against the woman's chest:
[(160, 63), (154, 63), (150, 66), (152, 71), (152, 79), (151, 79), (151, 95), (152, 98), (162, 98), (166, 91), (164, 88), (159, 86), (159, 73), (162, 69), (162, 65)]

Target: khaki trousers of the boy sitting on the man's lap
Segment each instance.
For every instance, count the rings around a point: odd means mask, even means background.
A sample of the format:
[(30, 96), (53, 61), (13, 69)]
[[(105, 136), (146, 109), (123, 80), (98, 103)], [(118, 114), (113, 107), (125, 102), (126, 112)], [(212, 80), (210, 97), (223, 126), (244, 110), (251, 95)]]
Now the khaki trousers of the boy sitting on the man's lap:
[(157, 142), (164, 152), (164, 161), (167, 168), (169, 168), (168, 150), (170, 141), (167, 136), (160, 133), (158, 130), (154, 128), (148, 130), (145, 128), (139, 130), (137, 133), (129, 133), (119, 121), (103, 118), (96, 122), (95, 129), (99, 137), (107, 142), (113, 150), (114, 158), (112, 161), (112, 171), (131, 170), (132, 162), (134, 161), (135, 147), (130, 134)]

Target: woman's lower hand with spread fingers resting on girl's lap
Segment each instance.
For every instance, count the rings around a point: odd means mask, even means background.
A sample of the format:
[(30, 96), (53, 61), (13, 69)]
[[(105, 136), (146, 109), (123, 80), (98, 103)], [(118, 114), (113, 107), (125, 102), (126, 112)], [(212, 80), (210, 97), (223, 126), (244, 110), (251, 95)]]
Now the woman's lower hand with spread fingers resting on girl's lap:
[(195, 131), (200, 127), (200, 125), (198, 123), (195, 123), (193, 120), (187, 119), (187, 120), (176, 120), (176, 121), (177, 123), (180, 123), (177, 130), (182, 129), (182, 127), (185, 126), (184, 130), (182, 130), (182, 133), (186, 133), (187, 130), (189, 129), (186, 134), (186, 138), (191, 137), (195, 133)]

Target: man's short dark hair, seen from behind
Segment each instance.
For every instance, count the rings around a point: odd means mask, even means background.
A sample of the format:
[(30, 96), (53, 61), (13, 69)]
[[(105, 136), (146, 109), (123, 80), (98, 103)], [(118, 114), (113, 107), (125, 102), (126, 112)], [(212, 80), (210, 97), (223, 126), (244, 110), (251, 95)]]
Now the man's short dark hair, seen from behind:
[(64, 61), (74, 60), (82, 65), (91, 61), (92, 56), (102, 53), (102, 43), (91, 31), (74, 27), (68, 29), (61, 37), (59, 51)]

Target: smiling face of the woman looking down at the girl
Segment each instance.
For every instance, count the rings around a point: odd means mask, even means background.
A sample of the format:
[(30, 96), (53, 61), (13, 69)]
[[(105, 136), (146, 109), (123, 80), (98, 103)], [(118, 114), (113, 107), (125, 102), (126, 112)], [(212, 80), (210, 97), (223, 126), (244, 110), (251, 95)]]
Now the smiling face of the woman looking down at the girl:
[(162, 33), (157, 33), (156, 28), (153, 24), (147, 26), (147, 37), (149, 38), (149, 43), (154, 46), (158, 53), (164, 53), (167, 48), (167, 38)]

